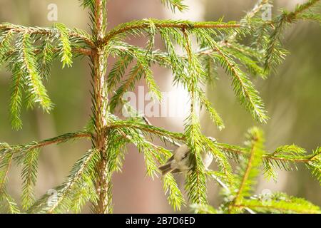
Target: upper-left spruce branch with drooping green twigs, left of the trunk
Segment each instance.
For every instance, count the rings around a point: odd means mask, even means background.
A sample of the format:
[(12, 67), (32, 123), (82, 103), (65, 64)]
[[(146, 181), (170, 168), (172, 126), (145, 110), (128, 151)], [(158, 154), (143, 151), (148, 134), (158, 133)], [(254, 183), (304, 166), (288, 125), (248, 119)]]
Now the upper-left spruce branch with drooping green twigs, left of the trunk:
[(53, 105), (43, 81), (49, 77), (51, 63), (60, 56), (63, 66), (71, 66), (72, 46), (79, 53), (83, 43), (90, 43), (86, 33), (70, 30), (63, 24), (54, 28), (0, 25), (0, 64), (7, 63), (12, 73), (9, 110), (14, 129), (22, 127), (20, 114), (24, 101), (28, 108), (38, 104), (49, 113)]

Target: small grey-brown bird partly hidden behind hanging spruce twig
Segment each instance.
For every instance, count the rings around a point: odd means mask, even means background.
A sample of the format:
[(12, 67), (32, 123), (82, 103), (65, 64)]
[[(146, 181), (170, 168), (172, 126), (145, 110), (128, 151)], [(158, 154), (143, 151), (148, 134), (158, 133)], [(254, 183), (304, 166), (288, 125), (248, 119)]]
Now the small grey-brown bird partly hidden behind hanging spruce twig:
[[(208, 139), (216, 142), (215, 138), (208, 137)], [(174, 151), (173, 156), (168, 159), (166, 164), (158, 167), (158, 169), (161, 170), (162, 175), (165, 175), (168, 172), (186, 172), (192, 168), (189, 156), (190, 148), (183, 144)], [(213, 155), (210, 152), (202, 152), (201, 157), (205, 169), (208, 169), (213, 161)]]

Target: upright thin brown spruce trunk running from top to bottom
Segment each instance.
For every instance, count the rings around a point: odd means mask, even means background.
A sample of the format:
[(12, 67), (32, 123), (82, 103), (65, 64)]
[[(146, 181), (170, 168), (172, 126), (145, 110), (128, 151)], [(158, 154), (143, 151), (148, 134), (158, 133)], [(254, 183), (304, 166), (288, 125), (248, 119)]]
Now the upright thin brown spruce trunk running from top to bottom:
[(111, 187), (111, 175), (108, 174), (108, 157), (106, 156), (106, 125), (107, 125), (107, 90), (106, 90), (106, 55), (100, 46), (101, 40), (105, 33), (104, 12), (106, 11), (106, 2), (96, 0), (93, 19), (93, 38), (96, 41), (96, 48), (93, 48), (92, 76), (93, 76), (93, 122), (95, 125), (95, 138), (93, 140), (93, 148), (100, 154), (100, 160), (96, 167), (96, 191), (98, 194), (98, 202), (94, 205), (96, 213), (105, 214), (111, 212), (111, 199), (109, 190)]

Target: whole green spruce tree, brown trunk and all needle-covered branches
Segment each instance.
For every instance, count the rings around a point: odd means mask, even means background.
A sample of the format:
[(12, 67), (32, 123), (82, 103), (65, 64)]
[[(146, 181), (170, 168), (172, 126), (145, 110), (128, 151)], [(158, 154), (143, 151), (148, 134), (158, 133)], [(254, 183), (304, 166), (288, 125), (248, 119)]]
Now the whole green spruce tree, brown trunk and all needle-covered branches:
[[(183, 0), (161, 0), (173, 11), (183, 11)], [(62, 67), (71, 66), (73, 58), (87, 56), (91, 61), (93, 106), (86, 130), (66, 133), (27, 145), (0, 143), (0, 211), (19, 213), (81, 212), (90, 202), (93, 212), (113, 212), (112, 175), (121, 172), (126, 146), (136, 145), (146, 164), (146, 175), (161, 178), (163, 190), (173, 209), (180, 210), (190, 202), (197, 213), (318, 213), (320, 209), (305, 201), (283, 193), (253, 195), (261, 171), (268, 179), (277, 180), (277, 170), (292, 170), (303, 163), (321, 182), (321, 149), (308, 154), (296, 145), (278, 147), (274, 152), (264, 148), (263, 133), (251, 128), (245, 147), (214, 142), (202, 134), (198, 113), (205, 108), (219, 130), (225, 128), (219, 110), (215, 110), (203, 87), (218, 78), (223, 68), (231, 78), (232, 88), (240, 104), (260, 123), (268, 120), (264, 103), (253, 78), (267, 78), (270, 70), (285, 58), (282, 33), (287, 26), (300, 19), (320, 22), (320, 1), (310, 0), (294, 11), (282, 11), (272, 21), (263, 21), (260, 10), (270, 1), (259, 1), (240, 21), (193, 22), (183, 20), (141, 19), (120, 24), (106, 31), (106, 0), (82, 0), (90, 11), (91, 32), (56, 24), (52, 28), (24, 27), (0, 24), (0, 64), (11, 71), (11, 125), (21, 129), (21, 108), (39, 105), (49, 112), (53, 105), (44, 87), (49, 80), (51, 64), (58, 58)], [(163, 49), (156, 50), (156, 35), (161, 36)], [(128, 38), (146, 38), (146, 46), (126, 43)], [(195, 41), (195, 42), (194, 42)], [(178, 54), (182, 52), (183, 54)], [(107, 71), (108, 57), (116, 63)], [(152, 66), (168, 68), (173, 73), (173, 84), (188, 90), (190, 112), (185, 119), (183, 133), (173, 133), (152, 125), (123, 100), (123, 95), (134, 90), (140, 80), (146, 81), (153, 98), (161, 102), (161, 91), (153, 76)], [(105, 81), (106, 80), (106, 81)], [(129, 114), (116, 116), (116, 108)], [(34, 187), (38, 172), (39, 153), (46, 145), (86, 138), (92, 147), (73, 165), (63, 184), (36, 199)], [(154, 139), (165, 145), (190, 148), (192, 169), (185, 175), (183, 197), (172, 174), (159, 177), (159, 165), (164, 165), (172, 151), (156, 145)], [(205, 170), (201, 155), (213, 154), (217, 170)], [(233, 169), (231, 160), (238, 163)], [(19, 209), (6, 188), (12, 164), (22, 165), (23, 180)], [(223, 204), (218, 209), (208, 205), (207, 181), (223, 187)], [(103, 189), (101, 189), (103, 187)], [(116, 202), (117, 203), (117, 202)]]

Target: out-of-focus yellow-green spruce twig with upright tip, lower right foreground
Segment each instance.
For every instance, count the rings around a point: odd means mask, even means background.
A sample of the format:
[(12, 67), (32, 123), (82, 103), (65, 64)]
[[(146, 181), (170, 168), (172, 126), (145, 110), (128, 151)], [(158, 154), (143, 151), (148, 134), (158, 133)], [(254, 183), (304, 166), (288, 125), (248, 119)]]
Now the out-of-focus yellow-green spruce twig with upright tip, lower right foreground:
[[(229, 147), (228, 150), (243, 150), (240, 157), (240, 168), (235, 174), (235, 181), (231, 185), (225, 185), (224, 175), (219, 172), (210, 171), (207, 174), (213, 177), (223, 187), (223, 204), (218, 210), (210, 205), (193, 204), (191, 209), (196, 213), (321, 213), (319, 207), (307, 202), (305, 199), (290, 197), (282, 192), (263, 192), (260, 195), (253, 195), (256, 180), (260, 175), (262, 161), (269, 159), (264, 150), (263, 133), (258, 128), (252, 128), (247, 135), (245, 148)], [(234, 152), (235, 152), (234, 151)], [(286, 159), (298, 159), (297, 156), (305, 154), (305, 150), (294, 145), (286, 145), (277, 148), (272, 154), (287, 153), (290, 157)], [(297, 155), (299, 153), (300, 155)], [(320, 154), (319, 154), (320, 155)]]

